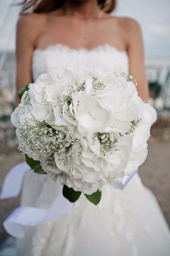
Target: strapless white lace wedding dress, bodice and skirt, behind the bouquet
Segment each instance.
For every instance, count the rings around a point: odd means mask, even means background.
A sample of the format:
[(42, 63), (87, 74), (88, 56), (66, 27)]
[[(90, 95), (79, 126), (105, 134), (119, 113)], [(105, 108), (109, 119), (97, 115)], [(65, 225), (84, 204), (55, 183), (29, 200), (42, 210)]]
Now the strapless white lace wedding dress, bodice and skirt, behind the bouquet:
[[(74, 50), (57, 44), (35, 50), (33, 78), (55, 66), (88, 63), (128, 72), (126, 52), (112, 46)], [(28, 170), (21, 205), (47, 209), (61, 189), (48, 176)], [(18, 256), (169, 256), (170, 234), (157, 200), (135, 174), (123, 190), (104, 186), (97, 206), (82, 194), (69, 213), (25, 227), (17, 250)]]

